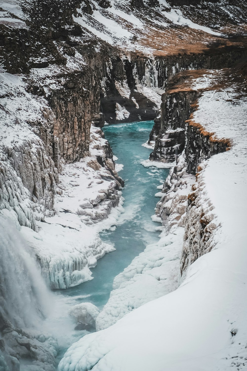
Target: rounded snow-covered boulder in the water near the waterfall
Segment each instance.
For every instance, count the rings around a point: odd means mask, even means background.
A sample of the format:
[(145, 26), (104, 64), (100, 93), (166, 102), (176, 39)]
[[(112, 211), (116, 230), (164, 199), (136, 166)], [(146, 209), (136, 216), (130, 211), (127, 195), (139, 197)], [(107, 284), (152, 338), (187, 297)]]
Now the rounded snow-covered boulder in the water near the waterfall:
[(81, 303), (74, 305), (68, 312), (69, 316), (83, 325), (95, 328), (95, 321), (100, 311), (92, 303)]

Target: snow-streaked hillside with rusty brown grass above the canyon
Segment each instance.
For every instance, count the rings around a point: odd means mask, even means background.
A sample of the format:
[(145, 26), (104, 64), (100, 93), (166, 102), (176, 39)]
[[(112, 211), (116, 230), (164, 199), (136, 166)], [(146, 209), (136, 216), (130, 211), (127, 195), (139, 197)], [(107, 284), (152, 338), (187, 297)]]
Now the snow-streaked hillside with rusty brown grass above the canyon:
[(105, 1), (104, 6), (102, 1), (89, 1), (86, 12), (85, 3), (77, 9), (75, 22), (111, 45), (146, 55), (174, 54), (183, 48), (202, 51), (203, 43), (213, 42), (227, 33), (226, 25), (233, 23), (232, 31), (235, 31), (245, 22), (240, 13), (240, 8), (246, 6), (242, 2), (203, 3), (196, 7), (192, 3), (179, 7), (173, 1), (164, 0), (111, 0)]

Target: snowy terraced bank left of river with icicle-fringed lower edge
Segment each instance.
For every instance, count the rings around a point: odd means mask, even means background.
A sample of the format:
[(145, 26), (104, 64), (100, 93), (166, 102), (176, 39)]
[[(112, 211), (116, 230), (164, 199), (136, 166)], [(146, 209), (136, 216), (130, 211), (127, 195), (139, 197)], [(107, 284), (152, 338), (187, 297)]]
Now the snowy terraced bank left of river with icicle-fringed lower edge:
[(97, 162), (96, 155), (113, 166), (103, 151), (108, 143), (99, 134), (100, 138), (96, 137), (97, 131), (91, 127), (90, 150), (95, 155), (64, 166), (57, 184), (55, 215), (37, 222), (38, 235), (22, 228), (52, 288), (68, 288), (91, 279), (89, 268), (114, 250), (101, 241), (99, 232), (114, 224), (123, 210), (121, 192), (116, 190), (120, 178), (114, 168), (117, 179)]

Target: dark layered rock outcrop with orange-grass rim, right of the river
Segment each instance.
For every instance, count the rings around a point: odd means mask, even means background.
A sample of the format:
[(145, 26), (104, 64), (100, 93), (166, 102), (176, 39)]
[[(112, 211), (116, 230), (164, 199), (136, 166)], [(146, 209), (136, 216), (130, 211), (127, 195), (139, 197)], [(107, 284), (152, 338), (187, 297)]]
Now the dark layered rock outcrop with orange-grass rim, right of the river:
[(150, 133), (149, 142), (155, 140), (151, 161), (173, 162), (185, 149), (187, 171), (196, 174), (201, 161), (230, 149), (229, 139), (218, 139), (193, 121), (200, 95), (190, 88), (171, 89), (162, 95), (160, 113)]

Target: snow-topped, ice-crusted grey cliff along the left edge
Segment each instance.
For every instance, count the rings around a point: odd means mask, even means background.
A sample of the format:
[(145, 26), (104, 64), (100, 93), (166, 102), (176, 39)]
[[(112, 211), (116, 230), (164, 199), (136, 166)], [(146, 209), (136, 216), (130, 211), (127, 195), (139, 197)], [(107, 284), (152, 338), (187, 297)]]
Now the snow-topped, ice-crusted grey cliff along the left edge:
[(45, 99), (26, 91), (23, 77), (0, 73), (0, 80), (0, 209), (35, 230), (35, 219), (53, 215), (58, 171), (49, 128), (54, 116)]

